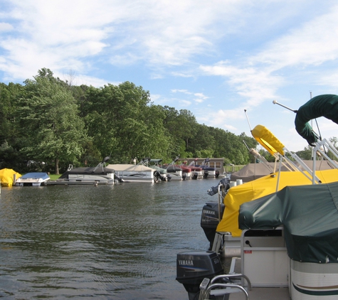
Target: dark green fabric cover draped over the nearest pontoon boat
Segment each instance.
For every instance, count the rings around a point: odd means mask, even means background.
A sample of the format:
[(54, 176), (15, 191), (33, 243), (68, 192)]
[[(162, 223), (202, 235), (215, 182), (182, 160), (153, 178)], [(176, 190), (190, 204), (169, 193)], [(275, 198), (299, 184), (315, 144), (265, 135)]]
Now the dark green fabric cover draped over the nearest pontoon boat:
[(338, 263), (338, 183), (287, 186), (243, 203), (239, 227), (284, 226), (287, 255), (298, 262)]

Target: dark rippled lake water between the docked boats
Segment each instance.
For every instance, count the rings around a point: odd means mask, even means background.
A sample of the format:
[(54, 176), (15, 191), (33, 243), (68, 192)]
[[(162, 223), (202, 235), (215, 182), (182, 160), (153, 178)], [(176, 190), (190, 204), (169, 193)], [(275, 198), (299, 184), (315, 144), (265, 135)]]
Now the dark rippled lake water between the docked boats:
[(208, 249), (218, 181), (2, 188), (0, 297), (188, 299), (176, 255)]

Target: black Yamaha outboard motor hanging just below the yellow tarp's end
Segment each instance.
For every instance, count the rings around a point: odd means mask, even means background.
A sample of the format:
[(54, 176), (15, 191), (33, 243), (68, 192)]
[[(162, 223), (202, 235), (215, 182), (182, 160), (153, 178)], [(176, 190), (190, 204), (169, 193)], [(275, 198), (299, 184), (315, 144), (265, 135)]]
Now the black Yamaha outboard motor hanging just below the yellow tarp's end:
[[(224, 213), (224, 208), (225, 205), (221, 203), (221, 218)], [(218, 202), (207, 202), (202, 210), (201, 227), (204, 230), (206, 238), (210, 242), (209, 250), (213, 247), (213, 240), (215, 239), (218, 223)]]

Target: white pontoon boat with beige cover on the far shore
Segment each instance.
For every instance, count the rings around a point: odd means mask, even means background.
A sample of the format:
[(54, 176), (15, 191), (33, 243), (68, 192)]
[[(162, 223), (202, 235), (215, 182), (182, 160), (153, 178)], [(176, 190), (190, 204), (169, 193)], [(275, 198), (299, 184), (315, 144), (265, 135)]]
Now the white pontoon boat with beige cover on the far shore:
[(154, 183), (154, 169), (142, 164), (109, 164), (107, 168), (115, 170), (116, 176), (127, 183)]

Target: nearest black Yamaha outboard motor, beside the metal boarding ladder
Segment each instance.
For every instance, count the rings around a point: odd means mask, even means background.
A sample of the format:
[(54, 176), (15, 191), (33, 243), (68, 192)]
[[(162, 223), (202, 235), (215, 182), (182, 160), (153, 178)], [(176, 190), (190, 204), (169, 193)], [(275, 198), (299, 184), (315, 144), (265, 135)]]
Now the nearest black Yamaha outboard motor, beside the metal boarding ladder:
[(176, 274), (176, 280), (184, 285), (189, 300), (197, 300), (203, 279), (223, 274), (221, 259), (212, 251), (181, 252), (176, 259)]

